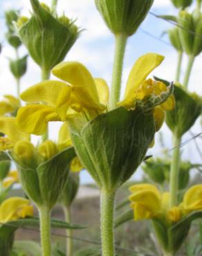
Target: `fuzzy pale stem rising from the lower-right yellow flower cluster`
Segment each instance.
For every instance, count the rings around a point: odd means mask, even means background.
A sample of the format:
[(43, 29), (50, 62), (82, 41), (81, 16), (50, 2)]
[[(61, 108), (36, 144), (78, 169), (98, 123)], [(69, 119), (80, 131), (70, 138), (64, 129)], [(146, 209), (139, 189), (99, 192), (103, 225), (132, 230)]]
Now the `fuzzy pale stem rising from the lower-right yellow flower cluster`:
[(172, 163), (171, 163), (171, 170), (170, 170), (170, 181), (169, 181), (169, 192), (170, 192), (170, 208), (174, 207), (178, 203), (178, 170), (181, 161), (181, 137), (173, 135), (173, 154), (172, 154)]

